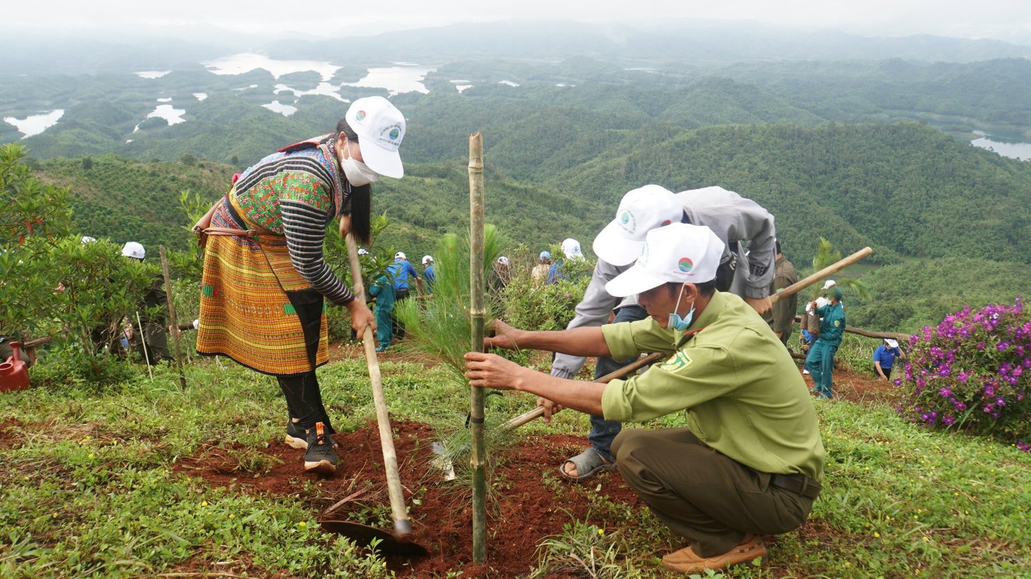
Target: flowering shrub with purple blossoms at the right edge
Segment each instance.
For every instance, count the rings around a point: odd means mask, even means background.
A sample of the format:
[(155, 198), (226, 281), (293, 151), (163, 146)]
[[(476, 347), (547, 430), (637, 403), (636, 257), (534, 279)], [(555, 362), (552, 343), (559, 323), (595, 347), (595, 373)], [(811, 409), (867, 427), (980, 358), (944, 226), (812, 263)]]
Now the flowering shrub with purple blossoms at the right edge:
[(911, 388), (898, 412), (943, 428), (969, 428), (1031, 447), (1031, 313), (1012, 305), (969, 307), (909, 339), (905, 379)]

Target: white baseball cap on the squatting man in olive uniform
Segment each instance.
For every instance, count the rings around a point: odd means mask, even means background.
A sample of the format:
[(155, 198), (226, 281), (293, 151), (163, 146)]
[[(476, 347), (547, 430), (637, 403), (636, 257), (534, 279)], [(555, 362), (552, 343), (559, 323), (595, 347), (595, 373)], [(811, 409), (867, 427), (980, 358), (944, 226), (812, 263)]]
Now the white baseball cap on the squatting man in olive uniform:
[(673, 223), (647, 232), (644, 250), (629, 269), (605, 284), (613, 297), (627, 297), (667, 282), (701, 284), (716, 278), (724, 243), (704, 225)]

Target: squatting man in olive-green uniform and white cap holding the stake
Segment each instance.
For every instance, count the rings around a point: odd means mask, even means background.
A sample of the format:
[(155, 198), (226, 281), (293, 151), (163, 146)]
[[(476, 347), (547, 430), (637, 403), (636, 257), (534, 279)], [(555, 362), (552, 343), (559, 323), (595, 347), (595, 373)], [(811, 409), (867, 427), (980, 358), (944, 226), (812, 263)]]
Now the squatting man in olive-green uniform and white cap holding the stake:
[(686, 428), (625, 428), (611, 447), (623, 478), (688, 543), (663, 557), (685, 573), (765, 560), (763, 536), (801, 525), (823, 479), (816, 411), (791, 355), (742, 298), (716, 290), (723, 250), (707, 227), (654, 229), (636, 263), (605, 285), (613, 296), (637, 294), (647, 318), (562, 331), (498, 322), (485, 340), (577, 356), (670, 354), (642, 375), (598, 384), (465, 355), (470, 385), (531, 392), (557, 408), (621, 422), (686, 411)]

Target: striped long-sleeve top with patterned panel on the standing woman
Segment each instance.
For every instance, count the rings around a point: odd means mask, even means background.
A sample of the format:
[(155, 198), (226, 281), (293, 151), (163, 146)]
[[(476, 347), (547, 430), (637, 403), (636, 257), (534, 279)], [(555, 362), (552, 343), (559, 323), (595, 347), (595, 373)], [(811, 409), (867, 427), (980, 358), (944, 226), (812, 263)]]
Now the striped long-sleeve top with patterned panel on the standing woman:
[(269, 155), (240, 175), (235, 190), (243, 217), (282, 233), (294, 268), (319, 293), (343, 305), (355, 296), (323, 257), (326, 226), (351, 193), (332, 151), (330, 139)]

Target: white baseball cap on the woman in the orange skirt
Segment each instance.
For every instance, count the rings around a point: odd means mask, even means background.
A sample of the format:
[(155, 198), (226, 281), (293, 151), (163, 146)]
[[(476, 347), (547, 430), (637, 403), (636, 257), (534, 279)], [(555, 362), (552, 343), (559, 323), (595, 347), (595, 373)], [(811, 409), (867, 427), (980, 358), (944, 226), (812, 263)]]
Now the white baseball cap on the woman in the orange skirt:
[(404, 115), (380, 96), (363, 97), (347, 108), (347, 124), (358, 133), (358, 148), (370, 169), (385, 176), (404, 176), (398, 149), (404, 139)]

